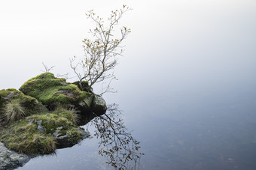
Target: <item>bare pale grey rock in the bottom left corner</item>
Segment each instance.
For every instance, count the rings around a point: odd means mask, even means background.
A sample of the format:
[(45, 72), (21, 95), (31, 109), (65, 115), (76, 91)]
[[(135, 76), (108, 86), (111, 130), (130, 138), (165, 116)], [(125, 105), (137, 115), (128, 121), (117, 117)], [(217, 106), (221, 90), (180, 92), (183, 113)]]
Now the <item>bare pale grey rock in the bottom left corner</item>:
[(26, 154), (17, 154), (8, 150), (5, 145), (0, 142), (0, 170), (16, 169), (29, 162), (30, 158)]

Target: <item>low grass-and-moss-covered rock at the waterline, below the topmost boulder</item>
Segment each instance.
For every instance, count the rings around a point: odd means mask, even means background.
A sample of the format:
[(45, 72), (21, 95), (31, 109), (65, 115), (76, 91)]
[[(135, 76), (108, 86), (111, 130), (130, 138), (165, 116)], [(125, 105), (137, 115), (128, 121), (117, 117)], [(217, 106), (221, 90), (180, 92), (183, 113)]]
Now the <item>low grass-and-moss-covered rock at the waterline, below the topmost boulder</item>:
[(2, 130), (0, 141), (18, 153), (51, 154), (56, 148), (75, 145), (88, 136), (75, 125), (76, 116), (66, 109), (31, 115), (9, 124)]

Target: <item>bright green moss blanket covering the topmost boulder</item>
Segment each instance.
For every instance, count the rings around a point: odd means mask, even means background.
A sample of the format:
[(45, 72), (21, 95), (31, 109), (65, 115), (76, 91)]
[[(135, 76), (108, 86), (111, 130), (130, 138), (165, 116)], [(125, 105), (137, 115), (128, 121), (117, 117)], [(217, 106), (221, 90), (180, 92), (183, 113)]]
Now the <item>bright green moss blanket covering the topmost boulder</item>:
[(42, 73), (25, 82), (20, 91), (37, 98), (49, 108), (57, 105), (77, 104), (90, 93), (80, 91), (77, 85), (66, 83), (66, 79), (55, 78), (52, 73)]

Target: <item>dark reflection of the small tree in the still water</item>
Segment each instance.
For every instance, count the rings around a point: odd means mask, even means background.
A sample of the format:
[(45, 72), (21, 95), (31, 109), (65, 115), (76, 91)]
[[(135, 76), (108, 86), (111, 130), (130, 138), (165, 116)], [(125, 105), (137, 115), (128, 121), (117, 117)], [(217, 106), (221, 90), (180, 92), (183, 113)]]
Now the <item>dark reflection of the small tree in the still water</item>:
[[(106, 156), (108, 165), (115, 169), (139, 169), (139, 160), (144, 154), (139, 152), (139, 142), (127, 132), (120, 114), (118, 106), (112, 104), (106, 114), (93, 119), (95, 136), (100, 139), (99, 154)], [(129, 166), (131, 161), (133, 166)]]

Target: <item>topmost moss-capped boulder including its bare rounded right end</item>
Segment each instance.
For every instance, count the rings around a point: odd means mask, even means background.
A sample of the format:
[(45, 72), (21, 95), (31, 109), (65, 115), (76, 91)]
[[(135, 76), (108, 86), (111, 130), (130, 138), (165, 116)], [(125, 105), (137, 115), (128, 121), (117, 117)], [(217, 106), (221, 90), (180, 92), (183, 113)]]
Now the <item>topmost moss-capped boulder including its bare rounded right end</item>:
[[(85, 82), (83, 82), (86, 85)], [(93, 93), (81, 91), (78, 82), (69, 83), (66, 79), (55, 78), (53, 73), (42, 73), (29, 79), (21, 87), (23, 94), (35, 97), (47, 106), (55, 109), (62, 105), (66, 108), (75, 107), (80, 114), (88, 114), (92, 111), (96, 115), (105, 113), (107, 106), (105, 100)]]

